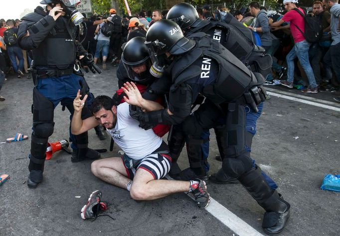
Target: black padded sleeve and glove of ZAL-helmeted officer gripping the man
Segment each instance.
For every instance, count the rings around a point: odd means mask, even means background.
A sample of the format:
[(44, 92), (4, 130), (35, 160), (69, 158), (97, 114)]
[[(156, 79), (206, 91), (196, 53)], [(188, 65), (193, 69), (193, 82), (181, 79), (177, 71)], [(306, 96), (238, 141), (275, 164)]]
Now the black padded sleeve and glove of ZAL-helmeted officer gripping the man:
[(140, 109), (130, 109), (130, 115), (137, 119), (142, 128), (152, 128), (157, 124), (180, 124), (185, 117), (190, 115), (192, 104), (192, 89), (189, 85), (171, 85), (169, 93), (169, 115), (168, 109), (151, 112), (141, 112)]

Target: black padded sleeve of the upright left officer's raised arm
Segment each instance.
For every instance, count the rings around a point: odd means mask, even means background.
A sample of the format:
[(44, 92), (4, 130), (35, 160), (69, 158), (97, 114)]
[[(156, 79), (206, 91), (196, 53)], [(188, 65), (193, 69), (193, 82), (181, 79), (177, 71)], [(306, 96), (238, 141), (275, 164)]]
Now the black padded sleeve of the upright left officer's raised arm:
[[(52, 16), (46, 15), (37, 22), (24, 20), (19, 24), (18, 42), (22, 49), (37, 48), (55, 26)], [(29, 32), (29, 36), (24, 35)], [(57, 46), (57, 45), (56, 45)]]

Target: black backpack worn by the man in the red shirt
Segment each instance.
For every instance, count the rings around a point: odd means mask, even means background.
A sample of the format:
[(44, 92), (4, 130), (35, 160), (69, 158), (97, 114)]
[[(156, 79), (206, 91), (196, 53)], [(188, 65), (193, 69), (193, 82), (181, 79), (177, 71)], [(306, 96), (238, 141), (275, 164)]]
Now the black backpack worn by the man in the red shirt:
[(299, 12), (299, 14), (302, 17), (304, 17), (304, 19), (305, 19), (305, 33), (302, 32), (302, 30), (297, 25), (295, 25), (295, 26), (305, 36), (305, 38), (308, 42), (311, 42), (311, 43), (318, 42), (323, 35), (323, 25), (322, 25), (319, 17), (309, 16), (309, 15), (307, 15), (305, 10), (304, 10), (305, 14), (303, 14), (301, 12), (301, 10), (299, 10), (298, 8), (293, 8), (293, 10), (296, 10), (297, 12)]

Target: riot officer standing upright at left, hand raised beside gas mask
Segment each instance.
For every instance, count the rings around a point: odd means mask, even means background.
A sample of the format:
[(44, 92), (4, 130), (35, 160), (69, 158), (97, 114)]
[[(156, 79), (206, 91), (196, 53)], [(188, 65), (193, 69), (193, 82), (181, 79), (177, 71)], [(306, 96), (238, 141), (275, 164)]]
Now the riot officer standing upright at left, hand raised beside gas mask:
[[(42, 181), (45, 151), (48, 137), (53, 133), (54, 108), (59, 102), (73, 114), (73, 100), (78, 89), (81, 94), (89, 94), (89, 88), (79, 70), (78, 58), (82, 65), (87, 65), (93, 72), (92, 55), (87, 54), (75, 40), (76, 25), (81, 23), (83, 15), (75, 5), (80, 0), (42, 0), (43, 9), (38, 6), (33, 13), (22, 18), (19, 25), (18, 42), (21, 48), (31, 50), (34, 66), (31, 66), (34, 80), (33, 89), (33, 132), (29, 161), (27, 185), (36, 188)], [(78, 55), (80, 55), (78, 57)], [(77, 72), (75, 72), (77, 70)], [(85, 108), (91, 105), (93, 95), (89, 94)], [(92, 116), (88, 109), (83, 109), (82, 118)], [(88, 148), (87, 132), (81, 135), (70, 133), (72, 162), (94, 160), (100, 154)]]

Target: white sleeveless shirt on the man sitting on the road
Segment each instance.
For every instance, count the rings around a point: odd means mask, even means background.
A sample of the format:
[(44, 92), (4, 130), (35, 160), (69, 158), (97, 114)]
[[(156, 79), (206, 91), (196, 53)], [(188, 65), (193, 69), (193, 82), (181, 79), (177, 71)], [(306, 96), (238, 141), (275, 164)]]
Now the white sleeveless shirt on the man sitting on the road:
[(129, 104), (117, 106), (117, 124), (113, 129), (106, 129), (117, 145), (128, 157), (140, 160), (158, 149), (163, 140), (152, 129), (140, 128), (139, 122), (129, 113)]

